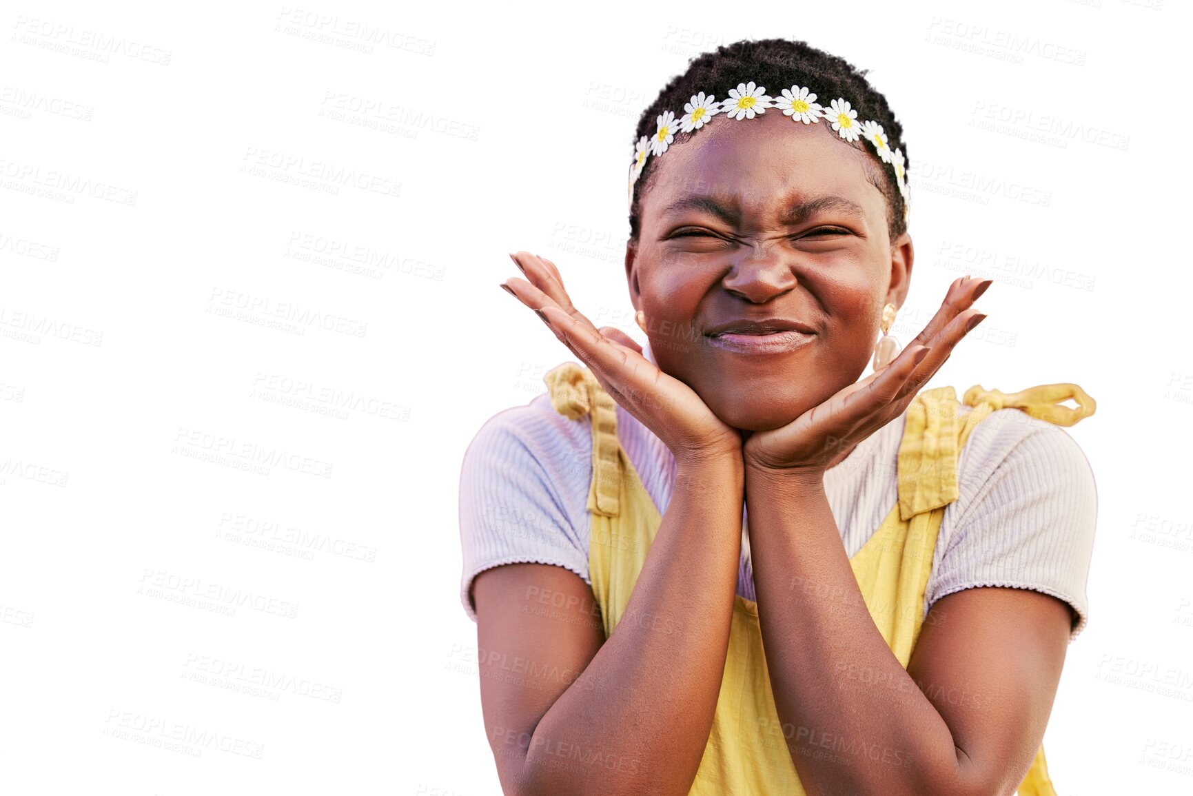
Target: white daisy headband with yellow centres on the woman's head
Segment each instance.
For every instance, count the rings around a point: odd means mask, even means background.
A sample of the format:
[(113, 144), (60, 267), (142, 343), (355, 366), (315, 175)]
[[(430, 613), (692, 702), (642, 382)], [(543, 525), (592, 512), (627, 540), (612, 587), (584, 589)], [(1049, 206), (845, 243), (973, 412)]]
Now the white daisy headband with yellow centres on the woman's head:
[(676, 132), (692, 132), (699, 130), (712, 121), (717, 113), (727, 113), (730, 118), (752, 119), (759, 113), (765, 113), (764, 109), (778, 107), (784, 116), (790, 116), (792, 122), (804, 124), (816, 124), (824, 119), (833, 125), (836, 134), (846, 141), (865, 138), (874, 147), (879, 160), (890, 163), (895, 169), (895, 183), (898, 192), (903, 196), (903, 220), (907, 220), (908, 208), (911, 197), (907, 187), (905, 158), (901, 149), (891, 152), (886, 143), (886, 134), (883, 125), (872, 119), (858, 122), (858, 111), (851, 107), (848, 100), (843, 98), (834, 99), (824, 107), (816, 101), (816, 94), (811, 93), (806, 86), (792, 86), (784, 88), (781, 97), (769, 97), (766, 88), (758, 86), (754, 81), (737, 84), (737, 88), (729, 90), (729, 98), (719, 103), (712, 94), (703, 91), (693, 94), (692, 99), (684, 104), (684, 116), (675, 118), (672, 111), (663, 111), (657, 118), (657, 129), (653, 136), (642, 136), (633, 147), (633, 163), (630, 166), (630, 203), (633, 203), (633, 184), (638, 181), (638, 175), (647, 166), (650, 155), (657, 158), (667, 152), (667, 147), (675, 140)]

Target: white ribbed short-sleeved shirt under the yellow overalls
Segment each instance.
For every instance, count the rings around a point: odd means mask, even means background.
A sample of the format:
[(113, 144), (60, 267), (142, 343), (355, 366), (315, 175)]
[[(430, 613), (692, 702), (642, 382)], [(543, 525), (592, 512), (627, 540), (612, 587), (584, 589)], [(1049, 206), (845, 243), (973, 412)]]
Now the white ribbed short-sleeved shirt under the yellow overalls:
[[(960, 407), (964, 415), (969, 407)], [(897, 501), (896, 464), (905, 413), (863, 440), (824, 476), (847, 556), (871, 538)], [(618, 437), (643, 486), (665, 514), (675, 479), (666, 445), (620, 406)], [(568, 420), (542, 394), (489, 419), (460, 476), (460, 599), (468, 616), (472, 579), (489, 567), (538, 562), (588, 578), (587, 510), (592, 426)], [(1020, 409), (999, 409), (970, 433), (958, 459), (959, 496), (945, 508), (923, 600), (977, 586), (1051, 594), (1073, 606), (1070, 640), (1088, 617), (1086, 581), (1093, 554), (1096, 492), (1076, 442)], [(748, 517), (746, 517), (748, 520)], [(737, 593), (755, 599), (747, 554)]]

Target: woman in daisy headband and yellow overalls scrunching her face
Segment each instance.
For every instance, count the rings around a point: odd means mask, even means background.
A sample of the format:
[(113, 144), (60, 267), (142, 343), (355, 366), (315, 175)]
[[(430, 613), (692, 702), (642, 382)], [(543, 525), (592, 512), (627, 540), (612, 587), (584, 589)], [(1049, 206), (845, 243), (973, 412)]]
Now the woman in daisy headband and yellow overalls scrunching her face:
[(1092, 401), (922, 389), (989, 280), (953, 282), (895, 356), (905, 146), (846, 61), (721, 47), (637, 136), (647, 346), (511, 255), (502, 288), (586, 368), (464, 461), (462, 599), (505, 792), (1052, 792), (1040, 741), (1096, 511), (1056, 424)]

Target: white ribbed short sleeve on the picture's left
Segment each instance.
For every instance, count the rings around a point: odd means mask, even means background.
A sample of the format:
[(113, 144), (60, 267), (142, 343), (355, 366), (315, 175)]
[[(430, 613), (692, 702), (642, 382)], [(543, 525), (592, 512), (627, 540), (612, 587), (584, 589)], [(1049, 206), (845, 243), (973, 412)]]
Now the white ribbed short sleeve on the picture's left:
[[(583, 445), (589, 446), (587, 452)], [(476, 622), (472, 580), (490, 567), (548, 563), (588, 582), (592, 432), (543, 395), (490, 418), (464, 453), (459, 481), (460, 601)]]

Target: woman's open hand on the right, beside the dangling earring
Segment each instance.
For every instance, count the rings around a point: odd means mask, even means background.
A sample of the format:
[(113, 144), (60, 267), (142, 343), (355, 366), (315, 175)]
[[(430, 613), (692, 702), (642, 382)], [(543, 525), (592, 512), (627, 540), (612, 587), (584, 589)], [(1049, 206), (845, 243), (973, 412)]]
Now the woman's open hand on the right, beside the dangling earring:
[(748, 468), (823, 475), (843, 450), (897, 418), (948, 359), (965, 334), (985, 317), (973, 301), (993, 279), (952, 283), (940, 309), (911, 344), (882, 370), (849, 384), (785, 426), (749, 436)]

